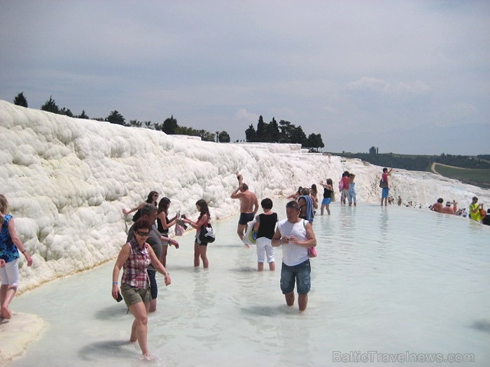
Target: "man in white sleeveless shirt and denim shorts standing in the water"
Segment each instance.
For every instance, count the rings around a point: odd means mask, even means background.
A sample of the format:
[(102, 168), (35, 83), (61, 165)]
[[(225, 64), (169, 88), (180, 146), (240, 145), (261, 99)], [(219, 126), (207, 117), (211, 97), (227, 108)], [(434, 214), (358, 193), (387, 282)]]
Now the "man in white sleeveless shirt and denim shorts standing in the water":
[(308, 247), (316, 246), (316, 237), (311, 224), (300, 218), (300, 210), (296, 201), (286, 204), (287, 219), (281, 220), (277, 225), (272, 246), (282, 245), (281, 291), (286, 298), (286, 304), (294, 304), (296, 283), (297, 303), (300, 311), (304, 311), (308, 305), (311, 287)]

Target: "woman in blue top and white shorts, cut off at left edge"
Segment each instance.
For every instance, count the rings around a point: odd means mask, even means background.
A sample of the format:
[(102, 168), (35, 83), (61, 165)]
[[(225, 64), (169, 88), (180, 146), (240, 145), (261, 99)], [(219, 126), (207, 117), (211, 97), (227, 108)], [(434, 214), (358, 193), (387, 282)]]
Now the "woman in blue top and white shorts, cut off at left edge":
[[(22, 245), (17, 231), (15, 231), (13, 216), (7, 212), (7, 198), (0, 194), (0, 259), (5, 261), (5, 265), (0, 266), (0, 318), (3, 319), (12, 317), (8, 306), (19, 286), (19, 251), (24, 254), (27, 266), (32, 265), (31, 255)], [(1, 261), (2, 264), (3, 261)]]

